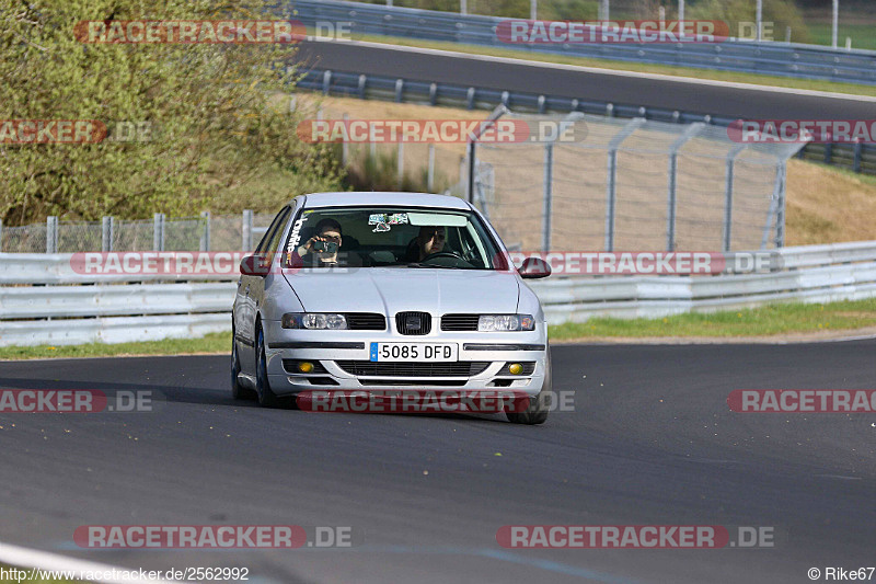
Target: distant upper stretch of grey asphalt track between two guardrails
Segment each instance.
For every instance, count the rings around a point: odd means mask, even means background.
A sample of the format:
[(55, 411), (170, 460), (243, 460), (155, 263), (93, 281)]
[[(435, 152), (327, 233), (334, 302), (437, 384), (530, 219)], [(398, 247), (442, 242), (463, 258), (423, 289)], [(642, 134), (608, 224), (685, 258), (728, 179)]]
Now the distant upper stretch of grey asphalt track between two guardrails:
[[(442, 51), (438, 51), (442, 53)], [(446, 53), (446, 51), (443, 51)], [(360, 43), (303, 43), (297, 58), (335, 71), (644, 105), (747, 119), (871, 119), (876, 103), (739, 87), (653, 79), (609, 71), (552, 69)]]

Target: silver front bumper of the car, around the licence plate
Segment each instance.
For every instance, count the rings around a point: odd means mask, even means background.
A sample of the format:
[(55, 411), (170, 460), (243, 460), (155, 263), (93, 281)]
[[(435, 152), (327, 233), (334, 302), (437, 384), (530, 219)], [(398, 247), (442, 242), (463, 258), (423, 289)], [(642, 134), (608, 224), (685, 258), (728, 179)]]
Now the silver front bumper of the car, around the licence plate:
[[(538, 394), (544, 383), (548, 340), (543, 323), (527, 332), (441, 332), (407, 336), (388, 331), (302, 331), (265, 321), (265, 356), (270, 389), (277, 396), (310, 390), (512, 390)], [(459, 360), (410, 364), (370, 362), (370, 343), (456, 343)], [(313, 371), (299, 373), (295, 363), (308, 360)], [(284, 363), (285, 362), (285, 363)], [(507, 365), (523, 364), (511, 375)], [(466, 367), (463, 364), (469, 364)]]

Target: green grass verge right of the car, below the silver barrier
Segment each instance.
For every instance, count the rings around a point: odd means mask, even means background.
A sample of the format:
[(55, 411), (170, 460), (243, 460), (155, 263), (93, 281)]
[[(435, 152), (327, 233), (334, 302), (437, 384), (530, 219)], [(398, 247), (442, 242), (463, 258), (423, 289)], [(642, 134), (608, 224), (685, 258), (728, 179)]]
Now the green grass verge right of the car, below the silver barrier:
[(876, 298), (823, 305), (787, 302), (662, 319), (596, 318), (550, 328), (552, 340), (587, 337), (775, 336), (876, 325)]

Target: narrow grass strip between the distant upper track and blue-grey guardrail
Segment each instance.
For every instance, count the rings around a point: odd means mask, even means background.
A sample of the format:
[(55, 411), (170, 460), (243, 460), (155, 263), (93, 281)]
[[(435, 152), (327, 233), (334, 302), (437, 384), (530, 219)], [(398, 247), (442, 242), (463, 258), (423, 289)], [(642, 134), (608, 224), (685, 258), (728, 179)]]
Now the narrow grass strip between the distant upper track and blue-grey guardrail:
[(659, 75), (668, 75), (675, 77), (692, 77), (695, 79), (712, 79), (715, 81), (728, 81), (734, 83), (753, 83), (757, 85), (770, 85), (776, 88), (805, 89), (811, 91), (828, 91), (834, 93), (849, 93), (853, 95), (876, 96), (876, 87), (863, 85), (856, 83), (837, 83), (833, 81), (795, 79), (791, 77), (742, 73), (736, 71), (718, 71), (712, 69), (696, 69), (693, 67), (675, 67), (669, 65), (627, 62), (627, 61), (619, 61), (611, 59), (596, 59), (588, 57), (568, 57), (565, 55), (537, 53), (533, 50), (496, 48), (482, 45), (465, 45), (461, 43), (450, 43), (443, 41), (420, 41), (416, 38), (404, 38), (395, 36), (353, 35), (353, 39), (401, 45), (408, 47), (453, 50), (457, 53), (469, 53), (472, 55), (487, 55), (493, 57), (506, 57), (511, 59), (527, 59), (540, 62), (557, 62), (561, 65), (577, 65), (580, 67), (598, 67), (600, 69), (613, 69), (618, 71), (659, 73)]

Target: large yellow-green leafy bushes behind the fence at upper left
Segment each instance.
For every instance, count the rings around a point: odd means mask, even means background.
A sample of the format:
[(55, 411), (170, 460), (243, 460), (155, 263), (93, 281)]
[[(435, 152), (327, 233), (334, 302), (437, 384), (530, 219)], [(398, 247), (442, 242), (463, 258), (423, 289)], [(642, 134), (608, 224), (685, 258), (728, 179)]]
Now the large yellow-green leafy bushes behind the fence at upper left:
[[(80, 21), (265, 20), (219, 0), (0, 0), (0, 119), (149, 124), (150, 141), (0, 144), (5, 225), (275, 208), (312, 190), (337, 188), (324, 146), (292, 130), (298, 114), (275, 92), (292, 88), (289, 45), (83, 44)], [(160, 8), (159, 8), (160, 7)], [(269, 196), (253, 185), (269, 183)], [(258, 205), (252, 205), (255, 199)]]

